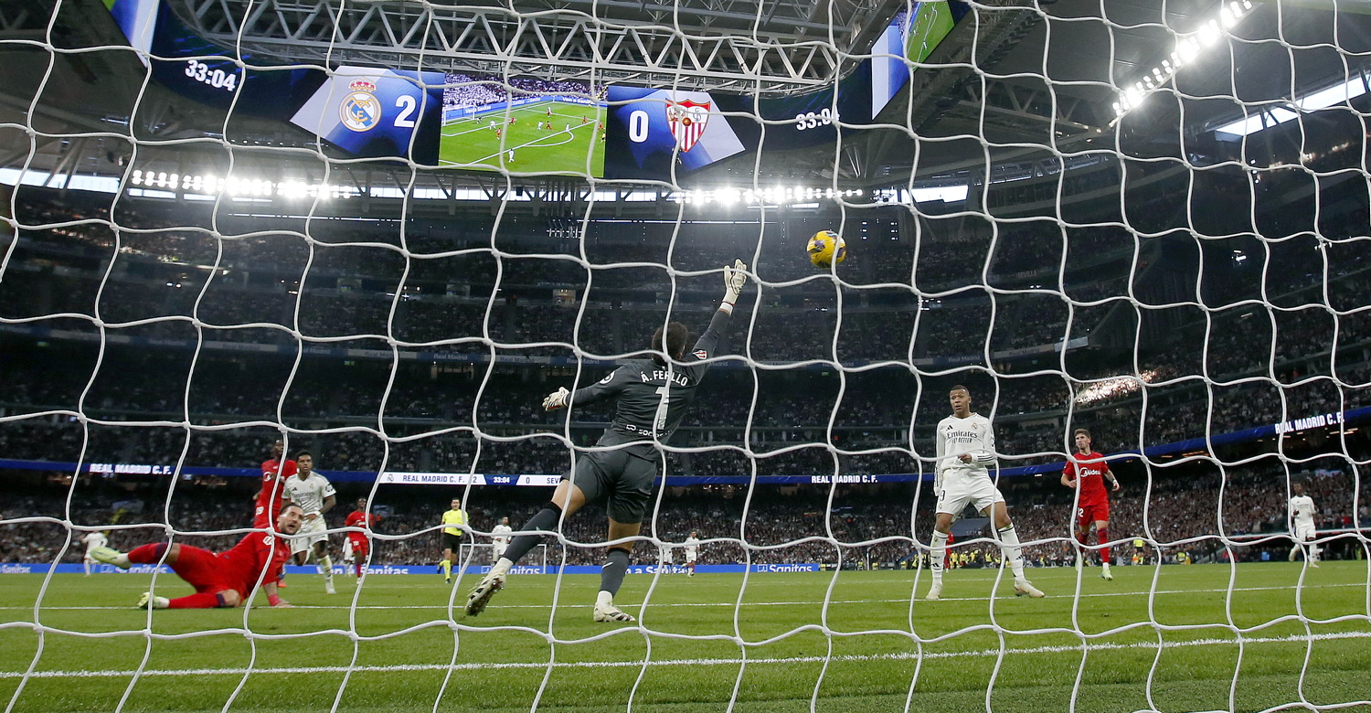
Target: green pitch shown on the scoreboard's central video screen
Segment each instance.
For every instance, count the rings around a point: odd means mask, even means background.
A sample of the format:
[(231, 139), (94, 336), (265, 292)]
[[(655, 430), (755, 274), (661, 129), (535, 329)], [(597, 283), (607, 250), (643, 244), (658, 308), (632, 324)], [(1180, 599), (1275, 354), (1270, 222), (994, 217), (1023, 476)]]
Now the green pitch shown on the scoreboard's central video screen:
[[(547, 115), (548, 108), (553, 110), (551, 117)], [(581, 123), (583, 118), (585, 123)], [(492, 121), (500, 136), (491, 129)], [(537, 128), (548, 121), (553, 122), (551, 130)], [(443, 126), (439, 165), (599, 177), (605, 174), (603, 122), (603, 107), (569, 101), (539, 101), (509, 114), (489, 111)], [(514, 160), (510, 160), (510, 151)]]

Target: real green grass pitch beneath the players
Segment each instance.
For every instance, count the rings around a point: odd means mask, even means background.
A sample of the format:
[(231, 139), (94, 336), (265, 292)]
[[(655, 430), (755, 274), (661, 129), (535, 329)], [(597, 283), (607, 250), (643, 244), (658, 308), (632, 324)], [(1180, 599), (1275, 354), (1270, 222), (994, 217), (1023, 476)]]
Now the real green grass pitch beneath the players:
[[(326, 596), (319, 577), (292, 575), (285, 595), (296, 609), (154, 612), (151, 636), (141, 631), (148, 614), (128, 607), (148, 576), (55, 576), (36, 614), (44, 579), (8, 575), (0, 701), (21, 712), (114, 710), (125, 697), (123, 710), (222, 710), (233, 697), (230, 710), (337, 702), (347, 712), (428, 712), (437, 702), (436, 710), (526, 712), (536, 702), (550, 712), (632, 703), (681, 713), (724, 710), (736, 698), (735, 710), (747, 712), (875, 713), (905, 710), (906, 701), (910, 710), (983, 712), (988, 690), (991, 709), (1010, 713), (1068, 710), (1082, 657), (1075, 710), (1083, 712), (1371, 698), (1366, 562), (1309, 569), (1298, 592), (1300, 565), (1242, 565), (1231, 584), (1230, 572), (1116, 568), (1106, 583), (1086, 569), (1078, 590), (1075, 570), (1038, 569), (1031, 576), (1047, 598), (991, 599), (995, 572), (958, 570), (947, 575), (947, 599), (913, 606), (913, 572), (633, 575), (618, 603), (646, 631), (591, 621), (598, 576), (566, 576), (561, 587), (555, 576), (514, 576), (468, 620), (450, 606), (474, 576), (457, 587), (439, 576), (373, 576), (361, 592), (339, 577), (339, 594)], [(923, 595), (927, 573), (920, 580)], [(1006, 577), (999, 591), (1010, 585)], [(189, 591), (166, 576), (158, 588)], [(1176, 628), (1153, 627), (1149, 612)], [(1322, 623), (1305, 628), (1300, 612)], [(41, 636), (23, 624), (34, 617)], [(262, 638), (247, 639), (244, 623)], [(1260, 628), (1239, 643), (1231, 627)], [(40, 646), (37, 675), (14, 698)]]

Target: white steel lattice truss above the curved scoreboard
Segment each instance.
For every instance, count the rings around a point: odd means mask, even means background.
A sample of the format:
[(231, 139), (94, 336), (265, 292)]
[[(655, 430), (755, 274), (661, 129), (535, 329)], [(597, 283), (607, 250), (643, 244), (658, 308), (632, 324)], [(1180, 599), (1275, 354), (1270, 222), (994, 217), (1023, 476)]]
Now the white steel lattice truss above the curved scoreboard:
[(902, 3), (536, 0), (492, 4), (177, 0), (203, 37), (299, 62), (794, 92), (850, 69)]

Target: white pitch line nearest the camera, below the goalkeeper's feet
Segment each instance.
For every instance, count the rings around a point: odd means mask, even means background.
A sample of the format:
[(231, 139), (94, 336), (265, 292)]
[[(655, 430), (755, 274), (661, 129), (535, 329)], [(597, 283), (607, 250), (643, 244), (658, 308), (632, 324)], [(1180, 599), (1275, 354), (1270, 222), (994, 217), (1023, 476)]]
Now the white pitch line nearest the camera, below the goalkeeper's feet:
[[(1243, 644), (1254, 643), (1309, 643), (1315, 640), (1334, 640), (1334, 639), (1371, 639), (1371, 632), (1363, 631), (1349, 631), (1339, 633), (1315, 633), (1311, 636), (1267, 636), (1260, 639), (1243, 639)], [(1163, 649), (1182, 649), (1194, 646), (1216, 646), (1227, 644), (1233, 646), (1238, 643), (1235, 639), (1193, 639), (1189, 642), (1164, 642)], [(1084, 649), (1090, 651), (1120, 651), (1127, 649), (1142, 649), (1148, 651), (1157, 650), (1156, 643), (1150, 642), (1137, 642), (1137, 643), (1100, 643), (1100, 644), (1086, 644)], [(1013, 654), (1064, 654), (1064, 653), (1079, 653), (1080, 646), (1034, 646), (1028, 649), (1005, 649), (1005, 655)], [(976, 658), (976, 657), (998, 657), (1001, 654), (999, 649), (980, 649), (975, 651), (936, 651), (923, 654), (845, 654), (835, 657), (820, 657), (820, 655), (806, 655), (806, 657), (786, 657), (786, 658), (749, 658), (749, 665), (757, 664), (821, 664), (821, 662), (869, 662), (869, 661), (914, 661), (920, 658)], [(650, 666), (736, 666), (743, 661), (740, 658), (669, 658), (664, 661), (648, 661)], [(546, 670), (548, 668), (640, 668), (643, 661), (584, 661), (584, 662), (551, 662), (551, 664), (525, 664), (525, 662), (506, 662), (506, 664), (396, 664), (391, 666), (293, 666), (293, 668), (260, 668), (251, 669), (251, 673), (378, 673), (378, 672), (396, 672), (396, 670), (474, 670), (474, 669), (540, 669)], [(33, 673), (26, 673), (22, 670), (0, 670), (0, 679), (99, 679), (99, 677), (122, 677), (133, 676), (134, 670), (36, 670)], [(232, 669), (158, 669), (158, 670), (144, 670), (137, 673), (138, 676), (243, 676), (250, 673), (245, 668), (232, 668)]]

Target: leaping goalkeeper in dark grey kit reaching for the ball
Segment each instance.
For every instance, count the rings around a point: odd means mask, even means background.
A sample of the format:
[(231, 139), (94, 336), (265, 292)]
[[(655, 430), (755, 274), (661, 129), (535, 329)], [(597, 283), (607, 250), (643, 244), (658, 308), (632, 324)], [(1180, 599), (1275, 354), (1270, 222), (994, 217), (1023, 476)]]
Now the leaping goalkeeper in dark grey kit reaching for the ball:
[[(609, 539), (621, 540), (638, 535), (662, 459), (657, 444), (672, 436), (695, 398), (695, 389), (709, 370), (709, 359), (714, 356), (724, 328), (733, 314), (733, 304), (743, 292), (746, 269), (743, 261), (724, 267), (724, 300), (690, 355), (686, 354), (686, 325), (670, 322), (665, 332), (658, 328), (651, 340), (651, 348), (669, 355), (670, 362), (659, 354), (650, 359), (633, 359), (596, 384), (574, 392), (559, 388), (543, 399), (543, 409), (548, 411), (607, 398), (617, 399), (614, 420), (598, 443), (606, 450), (576, 459), (572, 473), (562, 476), (553, 499), (520, 528), (525, 535), (514, 537), (491, 572), (472, 588), (466, 599), (468, 616), (480, 614), (485, 609), (491, 596), (505, 587), (510, 568), (542, 539), (542, 535), (531, 532), (557, 528), (563, 513), (570, 516), (587, 502), (603, 499), (609, 510)], [(614, 594), (624, 583), (632, 548), (632, 542), (609, 547), (600, 569), (595, 621), (635, 621), (614, 606)]]

